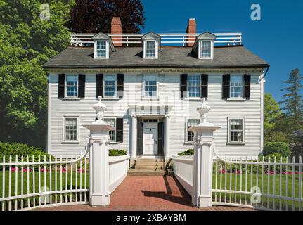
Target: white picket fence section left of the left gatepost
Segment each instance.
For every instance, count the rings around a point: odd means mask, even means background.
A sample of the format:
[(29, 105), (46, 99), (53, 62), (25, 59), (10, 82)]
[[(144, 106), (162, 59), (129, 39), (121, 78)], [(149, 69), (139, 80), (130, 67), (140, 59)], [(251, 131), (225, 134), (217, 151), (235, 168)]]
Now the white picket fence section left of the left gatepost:
[(0, 163), (1, 211), (89, 203), (89, 150), (46, 159), (4, 156)]

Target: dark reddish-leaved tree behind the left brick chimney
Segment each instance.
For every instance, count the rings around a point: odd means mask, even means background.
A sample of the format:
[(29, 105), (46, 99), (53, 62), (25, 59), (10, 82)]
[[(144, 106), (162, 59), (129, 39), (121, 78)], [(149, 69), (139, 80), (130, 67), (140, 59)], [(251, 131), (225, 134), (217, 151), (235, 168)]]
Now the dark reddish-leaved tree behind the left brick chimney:
[(121, 18), (124, 33), (137, 33), (145, 17), (140, 0), (76, 0), (67, 27), (78, 33), (109, 33), (112, 17)]

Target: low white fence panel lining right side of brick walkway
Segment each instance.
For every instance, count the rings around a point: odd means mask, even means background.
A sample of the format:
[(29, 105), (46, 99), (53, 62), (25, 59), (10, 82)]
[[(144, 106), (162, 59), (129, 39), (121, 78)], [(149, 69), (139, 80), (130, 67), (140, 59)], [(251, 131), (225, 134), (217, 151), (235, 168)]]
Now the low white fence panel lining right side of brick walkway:
[(193, 193), (193, 156), (172, 156), (174, 176), (187, 191)]

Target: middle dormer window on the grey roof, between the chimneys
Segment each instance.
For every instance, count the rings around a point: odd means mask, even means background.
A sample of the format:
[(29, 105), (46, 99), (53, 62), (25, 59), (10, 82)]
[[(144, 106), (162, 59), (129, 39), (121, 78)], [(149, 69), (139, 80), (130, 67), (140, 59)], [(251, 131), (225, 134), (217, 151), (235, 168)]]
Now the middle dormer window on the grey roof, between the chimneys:
[(149, 32), (142, 36), (143, 41), (143, 58), (157, 59), (160, 51), (160, 36), (154, 32)]

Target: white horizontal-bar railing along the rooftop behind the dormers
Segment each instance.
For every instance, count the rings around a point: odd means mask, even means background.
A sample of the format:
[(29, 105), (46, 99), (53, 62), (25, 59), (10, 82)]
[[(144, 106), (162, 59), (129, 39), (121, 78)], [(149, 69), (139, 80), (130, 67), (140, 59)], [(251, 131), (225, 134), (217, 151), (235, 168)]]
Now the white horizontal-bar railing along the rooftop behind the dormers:
[[(91, 39), (95, 34), (70, 34), (70, 45), (87, 46), (94, 43)], [(141, 37), (144, 34), (108, 34), (114, 44), (123, 44), (125, 46), (140, 45)], [(195, 38), (200, 34), (159, 34), (161, 45), (186, 46), (189, 43), (195, 43)], [(216, 39), (215, 45), (241, 45), (242, 33), (214, 33)]]

